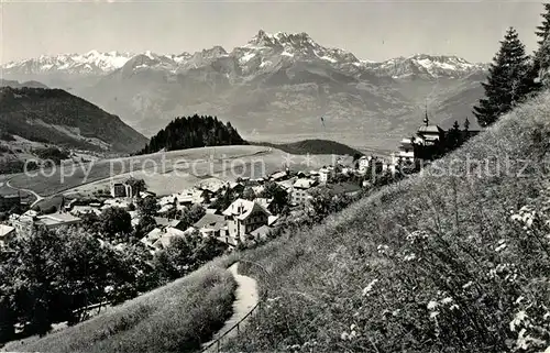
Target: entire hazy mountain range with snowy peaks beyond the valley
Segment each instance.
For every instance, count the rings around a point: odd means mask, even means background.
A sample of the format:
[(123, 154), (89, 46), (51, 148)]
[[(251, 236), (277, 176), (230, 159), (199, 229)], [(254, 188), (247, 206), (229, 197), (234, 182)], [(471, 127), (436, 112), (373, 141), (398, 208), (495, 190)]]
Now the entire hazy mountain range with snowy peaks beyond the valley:
[[(7, 79), (70, 90), (152, 135), (174, 117), (231, 121), (262, 141), (332, 139), (391, 148), (430, 120), (449, 128), (482, 97), (487, 64), (417, 54), (385, 62), (327, 47), (307, 33), (258, 31), (231, 52), (151, 52), (41, 56), (1, 66)], [(322, 121), (320, 117), (323, 117)]]

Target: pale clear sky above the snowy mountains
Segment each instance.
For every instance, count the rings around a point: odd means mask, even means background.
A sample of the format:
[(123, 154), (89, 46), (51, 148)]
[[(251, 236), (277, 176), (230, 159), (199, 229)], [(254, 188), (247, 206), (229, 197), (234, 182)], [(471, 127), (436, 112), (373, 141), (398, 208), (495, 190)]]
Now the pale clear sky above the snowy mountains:
[(0, 0), (0, 63), (100, 52), (179, 54), (244, 45), (258, 30), (307, 32), (317, 43), (384, 60), (417, 53), (490, 62), (508, 26), (528, 53), (534, 1)]

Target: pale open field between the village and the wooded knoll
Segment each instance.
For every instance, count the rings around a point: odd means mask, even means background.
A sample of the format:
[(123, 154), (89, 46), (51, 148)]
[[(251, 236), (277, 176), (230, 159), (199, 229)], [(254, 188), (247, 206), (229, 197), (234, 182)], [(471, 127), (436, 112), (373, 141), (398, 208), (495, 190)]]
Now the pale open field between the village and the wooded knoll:
[(202, 147), (88, 164), (66, 164), (41, 170), (35, 176), (18, 175), (11, 178), (10, 185), (46, 197), (62, 191), (94, 191), (108, 187), (111, 177), (116, 180), (132, 175), (143, 178), (151, 191), (166, 195), (190, 187), (206, 177), (223, 180), (234, 180), (239, 176), (257, 178), (283, 169), (285, 164), (302, 170), (334, 162), (332, 155), (289, 155), (263, 146)]

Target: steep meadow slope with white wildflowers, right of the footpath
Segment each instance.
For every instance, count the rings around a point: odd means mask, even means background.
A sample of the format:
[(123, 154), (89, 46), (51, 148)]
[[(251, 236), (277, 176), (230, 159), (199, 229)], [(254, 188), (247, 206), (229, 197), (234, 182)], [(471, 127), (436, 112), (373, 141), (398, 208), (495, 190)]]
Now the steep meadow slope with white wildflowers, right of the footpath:
[(548, 117), (544, 93), (421, 175), (252, 251), (271, 299), (230, 351), (548, 352)]

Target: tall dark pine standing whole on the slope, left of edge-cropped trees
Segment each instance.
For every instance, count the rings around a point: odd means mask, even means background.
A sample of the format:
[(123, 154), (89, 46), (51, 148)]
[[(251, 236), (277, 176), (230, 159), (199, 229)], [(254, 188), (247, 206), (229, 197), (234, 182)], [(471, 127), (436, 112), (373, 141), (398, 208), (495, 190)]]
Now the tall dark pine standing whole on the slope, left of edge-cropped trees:
[(491, 125), (499, 115), (526, 98), (531, 90), (528, 71), (529, 63), (525, 45), (519, 41), (516, 30), (509, 27), (501, 41), (501, 49), (493, 58), (487, 82), (482, 84), (485, 98), (474, 107), (473, 113), (480, 125)]

